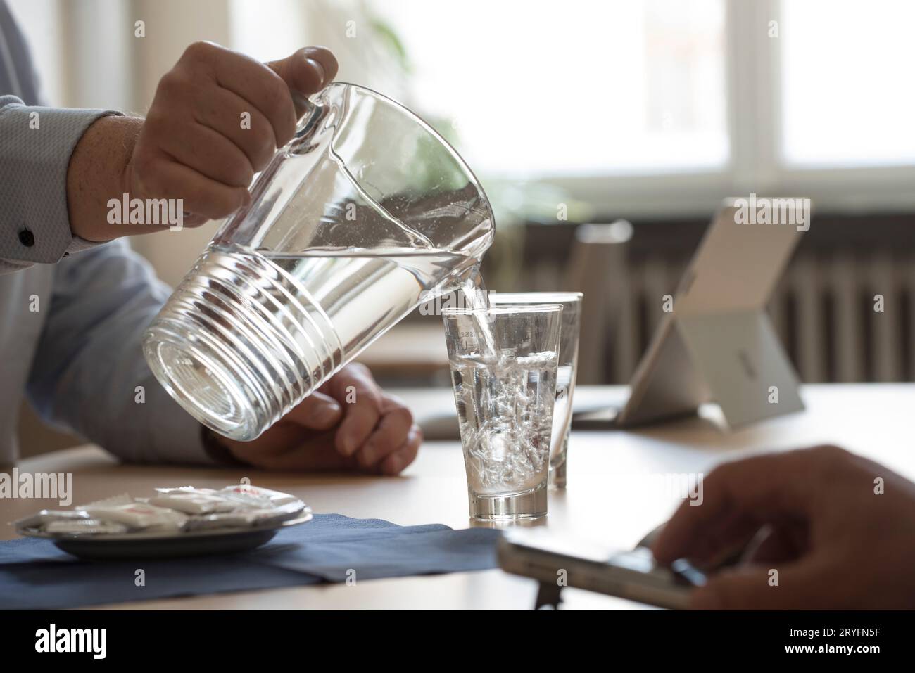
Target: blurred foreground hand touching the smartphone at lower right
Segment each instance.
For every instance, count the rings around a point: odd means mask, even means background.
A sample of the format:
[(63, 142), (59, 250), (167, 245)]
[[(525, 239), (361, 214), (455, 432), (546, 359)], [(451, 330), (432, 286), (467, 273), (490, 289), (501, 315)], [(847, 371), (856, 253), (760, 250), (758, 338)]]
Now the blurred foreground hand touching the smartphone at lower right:
[(915, 484), (886, 467), (818, 446), (722, 465), (703, 487), (704, 503), (667, 523), (657, 560), (701, 567), (748, 546), (694, 591), (694, 607), (915, 607)]

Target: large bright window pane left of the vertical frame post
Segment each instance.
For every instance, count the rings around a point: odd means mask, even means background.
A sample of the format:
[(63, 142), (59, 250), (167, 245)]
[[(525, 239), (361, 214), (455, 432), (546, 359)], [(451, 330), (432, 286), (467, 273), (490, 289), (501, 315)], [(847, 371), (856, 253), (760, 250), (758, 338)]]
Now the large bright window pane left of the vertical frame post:
[(722, 0), (382, 0), (418, 110), (483, 173), (720, 169)]

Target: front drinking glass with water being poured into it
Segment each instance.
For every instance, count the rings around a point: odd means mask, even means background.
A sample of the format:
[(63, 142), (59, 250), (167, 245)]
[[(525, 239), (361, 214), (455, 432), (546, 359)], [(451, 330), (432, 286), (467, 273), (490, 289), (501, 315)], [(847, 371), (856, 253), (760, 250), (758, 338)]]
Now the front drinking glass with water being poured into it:
[(472, 518), (546, 514), (562, 311), (442, 311)]

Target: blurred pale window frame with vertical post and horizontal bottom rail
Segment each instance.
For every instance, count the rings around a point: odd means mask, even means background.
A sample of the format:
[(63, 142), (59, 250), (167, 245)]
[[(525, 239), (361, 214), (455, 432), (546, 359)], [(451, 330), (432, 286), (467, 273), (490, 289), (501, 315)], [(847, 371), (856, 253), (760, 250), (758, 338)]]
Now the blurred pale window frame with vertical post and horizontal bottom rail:
[[(708, 214), (722, 198), (750, 193), (806, 197), (842, 212), (915, 211), (915, 166), (789, 166), (781, 155), (778, 37), (785, 0), (725, 0), (726, 104), (730, 157), (715, 171), (539, 176), (612, 217)], [(511, 176), (501, 176), (511, 178)]]

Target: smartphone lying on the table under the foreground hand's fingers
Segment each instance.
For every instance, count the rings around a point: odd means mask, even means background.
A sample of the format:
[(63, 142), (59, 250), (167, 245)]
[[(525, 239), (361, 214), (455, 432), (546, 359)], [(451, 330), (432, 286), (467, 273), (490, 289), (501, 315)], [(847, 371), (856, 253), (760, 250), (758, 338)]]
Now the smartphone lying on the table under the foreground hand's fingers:
[(658, 565), (647, 547), (611, 550), (549, 529), (508, 530), (497, 553), (505, 572), (673, 610), (686, 607), (690, 592), (705, 583), (686, 561)]

